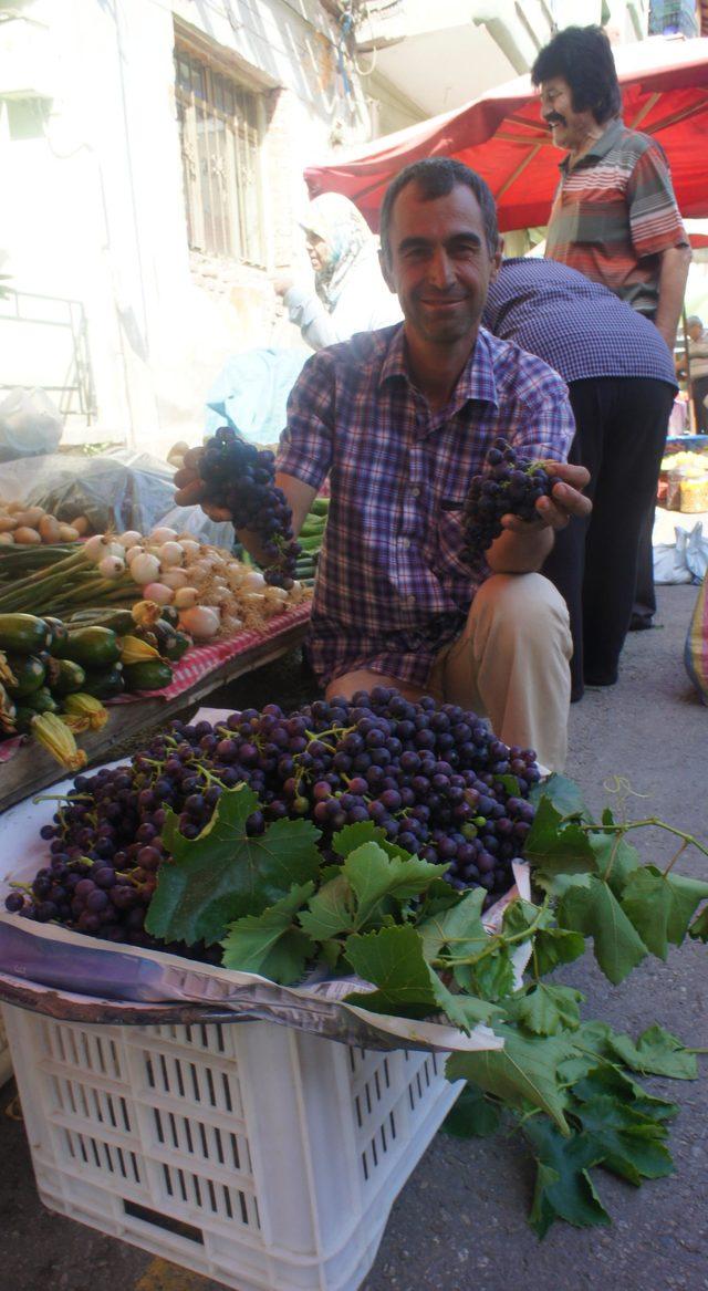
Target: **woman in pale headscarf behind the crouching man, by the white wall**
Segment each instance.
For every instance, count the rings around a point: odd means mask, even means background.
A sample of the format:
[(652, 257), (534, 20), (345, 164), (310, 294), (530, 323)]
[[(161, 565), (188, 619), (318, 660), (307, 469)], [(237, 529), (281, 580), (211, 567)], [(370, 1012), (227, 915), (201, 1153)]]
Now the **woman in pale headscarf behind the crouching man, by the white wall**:
[(349, 198), (338, 192), (314, 198), (301, 227), (314, 290), (292, 278), (279, 278), (274, 287), (313, 350), (401, 321), (398, 300), (381, 276), (377, 239)]

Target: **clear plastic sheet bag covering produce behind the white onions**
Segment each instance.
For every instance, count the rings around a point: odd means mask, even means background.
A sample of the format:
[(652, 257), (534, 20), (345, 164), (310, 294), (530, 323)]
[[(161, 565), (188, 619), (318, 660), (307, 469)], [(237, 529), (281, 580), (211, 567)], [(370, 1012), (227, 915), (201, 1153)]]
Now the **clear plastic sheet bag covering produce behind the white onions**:
[(85, 515), (96, 533), (146, 533), (174, 503), (173, 469), (130, 449), (98, 457), (56, 453), (4, 466), (0, 497), (43, 506), (67, 524)]

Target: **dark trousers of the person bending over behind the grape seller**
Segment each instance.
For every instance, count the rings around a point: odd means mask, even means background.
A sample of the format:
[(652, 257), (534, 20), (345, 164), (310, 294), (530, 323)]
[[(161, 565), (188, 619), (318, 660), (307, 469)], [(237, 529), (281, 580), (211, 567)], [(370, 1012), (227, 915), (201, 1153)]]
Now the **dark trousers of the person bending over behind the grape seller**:
[[(571, 693), (580, 698), (584, 683), (609, 686), (618, 676), (640, 534), (654, 509), (673, 390), (649, 377), (596, 377), (571, 381), (568, 391), (576, 423), (568, 461), (590, 473), (585, 492), (593, 513), (556, 534), (543, 572), (568, 607)], [(651, 559), (651, 545), (649, 553)]]

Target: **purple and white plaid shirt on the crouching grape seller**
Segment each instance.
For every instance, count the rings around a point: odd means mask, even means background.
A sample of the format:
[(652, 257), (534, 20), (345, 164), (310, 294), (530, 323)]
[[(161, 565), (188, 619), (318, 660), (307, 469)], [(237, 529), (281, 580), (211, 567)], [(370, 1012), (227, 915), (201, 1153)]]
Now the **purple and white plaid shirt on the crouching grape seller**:
[(368, 667), (425, 686), (487, 573), (460, 560), (460, 507), (492, 440), (563, 461), (574, 431), (558, 374), (483, 330), (435, 412), (410, 381), (402, 327), (314, 355), (278, 469), (314, 488), (331, 476), (310, 624), (320, 680)]

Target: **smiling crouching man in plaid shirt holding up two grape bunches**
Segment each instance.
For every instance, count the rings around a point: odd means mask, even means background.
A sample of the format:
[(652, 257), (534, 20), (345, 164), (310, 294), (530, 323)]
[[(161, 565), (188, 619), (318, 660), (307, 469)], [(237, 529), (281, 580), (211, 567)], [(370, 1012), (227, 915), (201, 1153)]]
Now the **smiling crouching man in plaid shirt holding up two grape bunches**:
[[(500, 262), (494, 199), (474, 172), (448, 159), (401, 172), (381, 212), (381, 267), (403, 324), (305, 364), (276, 484), (297, 533), (331, 482), (309, 639), (327, 696), (381, 683), (433, 695), (561, 769), (572, 643), (565, 602), (539, 571), (556, 529), (590, 511), (588, 471), (566, 462), (575, 426), (561, 377), (481, 329)], [(470, 573), (461, 507), (497, 436), (548, 460), (557, 482), (534, 522), (505, 516)], [(182, 503), (203, 496), (196, 453), (186, 467)]]

